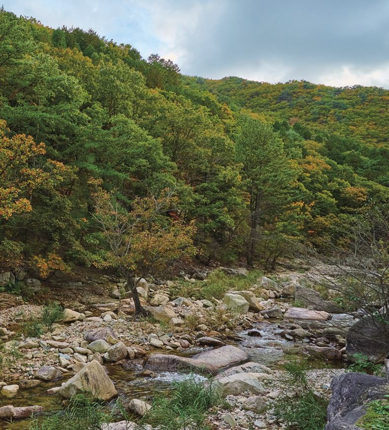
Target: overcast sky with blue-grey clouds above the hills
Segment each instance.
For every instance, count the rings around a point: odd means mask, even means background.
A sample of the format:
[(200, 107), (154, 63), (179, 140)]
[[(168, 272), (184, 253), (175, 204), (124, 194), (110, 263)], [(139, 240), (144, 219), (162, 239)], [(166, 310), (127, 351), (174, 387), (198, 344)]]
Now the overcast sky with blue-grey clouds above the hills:
[(0, 0), (57, 28), (93, 28), (185, 74), (389, 88), (389, 0)]

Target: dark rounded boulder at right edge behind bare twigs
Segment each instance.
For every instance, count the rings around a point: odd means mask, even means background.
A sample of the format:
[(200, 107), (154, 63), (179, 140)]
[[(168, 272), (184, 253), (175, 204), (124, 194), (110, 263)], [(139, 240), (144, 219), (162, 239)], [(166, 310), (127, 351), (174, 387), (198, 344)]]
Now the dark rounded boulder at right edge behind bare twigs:
[(350, 360), (354, 354), (363, 354), (375, 363), (384, 363), (389, 355), (389, 315), (386, 322), (368, 316), (362, 318), (348, 331), (346, 353)]

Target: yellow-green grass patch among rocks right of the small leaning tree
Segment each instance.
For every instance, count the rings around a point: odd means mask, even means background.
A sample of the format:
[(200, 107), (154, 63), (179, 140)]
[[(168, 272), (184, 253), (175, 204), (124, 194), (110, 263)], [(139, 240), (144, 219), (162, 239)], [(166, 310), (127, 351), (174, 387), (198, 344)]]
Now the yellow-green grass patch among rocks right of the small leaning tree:
[(194, 283), (179, 280), (170, 288), (172, 296), (193, 297), (195, 299), (211, 298), (221, 299), (228, 290), (247, 290), (256, 283), (262, 272), (251, 270), (247, 276), (226, 275), (221, 270), (215, 270), (208, 275), (206, 281), (196, 281)]

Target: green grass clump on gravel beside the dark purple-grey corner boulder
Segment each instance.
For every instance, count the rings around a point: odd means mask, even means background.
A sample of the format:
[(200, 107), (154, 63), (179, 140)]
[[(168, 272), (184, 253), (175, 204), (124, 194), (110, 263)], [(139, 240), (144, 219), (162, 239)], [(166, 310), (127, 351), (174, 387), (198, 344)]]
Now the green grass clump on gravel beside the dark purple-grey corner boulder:
[(275, 403), (275, 415), (286, 423), (287, 429), (323, 430), (326, 423), (328, 401), (316, 396), (310, 388), (306, 370), (300, 363), (284, 365), (289, 378), (288, 385), (294, 396), (279, 398)]

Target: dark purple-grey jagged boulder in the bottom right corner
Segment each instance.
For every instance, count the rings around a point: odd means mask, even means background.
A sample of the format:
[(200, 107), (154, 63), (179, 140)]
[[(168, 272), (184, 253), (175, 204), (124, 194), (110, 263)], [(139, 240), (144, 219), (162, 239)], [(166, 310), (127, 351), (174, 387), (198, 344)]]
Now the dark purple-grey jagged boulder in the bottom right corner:
[(389, 392), (386, 379), (364, 373), (344, 373), (331, 382), (325, 430), (358, 430), (355, 425), (366, 413), (368, 402)]

